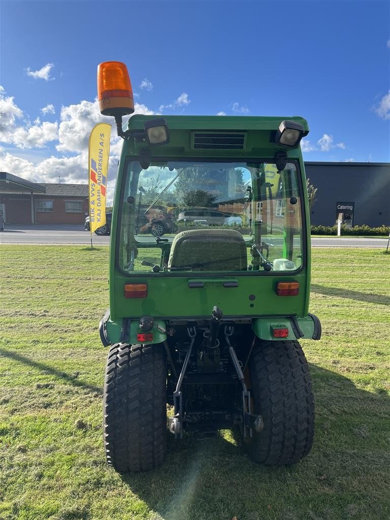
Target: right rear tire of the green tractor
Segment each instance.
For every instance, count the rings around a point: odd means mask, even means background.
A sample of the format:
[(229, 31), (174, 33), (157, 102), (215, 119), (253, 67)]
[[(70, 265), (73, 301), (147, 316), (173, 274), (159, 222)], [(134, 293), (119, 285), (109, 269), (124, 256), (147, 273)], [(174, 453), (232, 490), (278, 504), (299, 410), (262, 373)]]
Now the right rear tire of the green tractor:
[(308, 364), (297, 341), (261, 342), (249, 361), (253, 408), (264, 430), (245, 437), (249, 456), (268, 465), (298, 462), (314, 438), (314, 395)]

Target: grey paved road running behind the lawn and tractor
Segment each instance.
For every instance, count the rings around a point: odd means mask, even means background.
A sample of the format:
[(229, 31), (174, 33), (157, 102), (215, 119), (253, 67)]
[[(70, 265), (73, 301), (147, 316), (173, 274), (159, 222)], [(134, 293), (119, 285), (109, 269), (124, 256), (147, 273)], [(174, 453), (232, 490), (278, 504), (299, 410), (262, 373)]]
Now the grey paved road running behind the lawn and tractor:
[[(151, 237), (141, 236), (149, 240)], [(98, 237), (92, 234), (94, 245), (108, 245), (110, 237)], [(0, 232), (1, 244), (84, 244), (90, 245), (90, 233), (84, 230), (84, 226), (58, 225), (22, 225), (8, 224), (5, 231)], [(386, 249), (387, 238), (312, 238), (313, 247), (337, 247), (337, 248), (382, 248)]]

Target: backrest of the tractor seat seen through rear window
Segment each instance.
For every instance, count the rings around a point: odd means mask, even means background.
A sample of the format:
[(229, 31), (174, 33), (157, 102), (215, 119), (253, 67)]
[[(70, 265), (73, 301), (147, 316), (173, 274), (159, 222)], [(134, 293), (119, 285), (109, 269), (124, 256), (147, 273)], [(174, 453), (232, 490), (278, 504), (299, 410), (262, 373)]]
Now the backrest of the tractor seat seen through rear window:
[(190, 229), (173, 239), (171, 271), (246, 271), (248, 259), (243, 236), (233, 229)]

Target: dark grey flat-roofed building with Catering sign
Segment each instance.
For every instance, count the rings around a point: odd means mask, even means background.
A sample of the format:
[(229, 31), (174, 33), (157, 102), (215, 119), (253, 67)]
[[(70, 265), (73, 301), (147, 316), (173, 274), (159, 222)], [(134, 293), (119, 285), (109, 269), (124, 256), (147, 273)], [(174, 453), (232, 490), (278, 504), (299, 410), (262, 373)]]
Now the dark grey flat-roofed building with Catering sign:
[(311, 224), (390, 224), (390, 164), (305, 162), (306, 177), (318, 189)]

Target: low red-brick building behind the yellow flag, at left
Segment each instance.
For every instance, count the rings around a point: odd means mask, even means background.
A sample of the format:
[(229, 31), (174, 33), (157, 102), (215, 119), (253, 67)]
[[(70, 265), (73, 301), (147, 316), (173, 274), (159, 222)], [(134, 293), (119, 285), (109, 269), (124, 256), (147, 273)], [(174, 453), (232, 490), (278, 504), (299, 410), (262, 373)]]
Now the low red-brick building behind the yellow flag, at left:
[(6, 224), (84, 224), (88, 185), (37, 184), (0, 172), (0, 210)]

